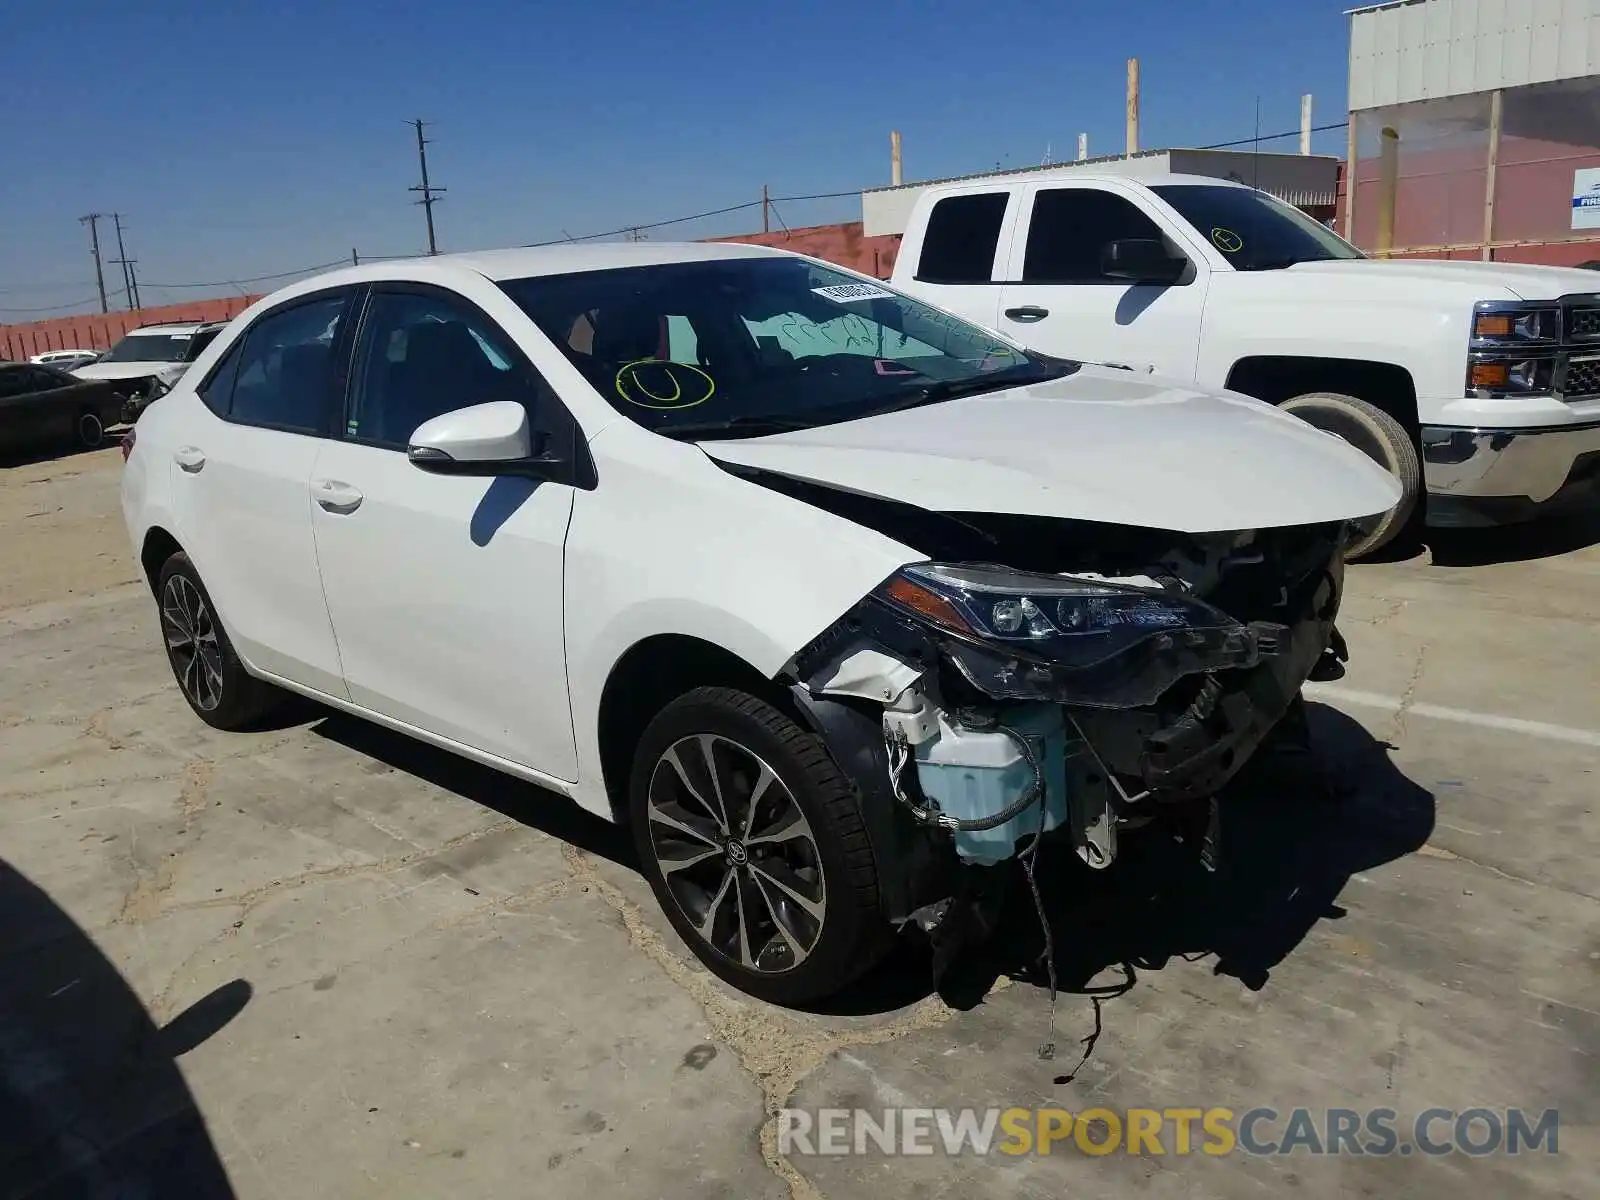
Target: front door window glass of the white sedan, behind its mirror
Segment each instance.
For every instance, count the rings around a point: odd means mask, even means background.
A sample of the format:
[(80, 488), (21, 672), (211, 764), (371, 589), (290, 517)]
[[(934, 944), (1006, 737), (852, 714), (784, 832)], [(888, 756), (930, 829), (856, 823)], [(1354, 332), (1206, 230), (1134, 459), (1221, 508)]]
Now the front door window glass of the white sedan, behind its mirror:
[(544, 382), (528, 378), (506, 333), (464, 301), (374, 293), (355, 362), (344, 427), (354, 442), (405, 450), (424, 421), (494, 400), (517, 400), (530, 426), (547, 426)]

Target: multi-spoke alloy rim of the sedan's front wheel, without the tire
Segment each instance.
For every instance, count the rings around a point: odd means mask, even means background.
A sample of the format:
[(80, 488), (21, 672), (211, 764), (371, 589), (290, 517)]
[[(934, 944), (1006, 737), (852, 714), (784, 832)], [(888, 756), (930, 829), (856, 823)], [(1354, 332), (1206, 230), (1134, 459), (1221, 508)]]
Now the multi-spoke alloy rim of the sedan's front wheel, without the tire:
[(747, 971), (781, 974), (822, 936), (827, 891), (816, 835), (754, 750), (720, 734), (680, 738), (650, 776), (656, 864), (688, 923)]

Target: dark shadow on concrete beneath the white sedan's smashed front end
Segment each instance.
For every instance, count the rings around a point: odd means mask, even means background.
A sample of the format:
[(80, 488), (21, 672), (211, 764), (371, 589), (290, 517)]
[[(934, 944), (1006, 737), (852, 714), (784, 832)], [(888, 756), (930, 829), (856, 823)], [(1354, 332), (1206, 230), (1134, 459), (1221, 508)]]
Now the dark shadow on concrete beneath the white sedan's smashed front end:
[[(1061, 842), (1042, 846), (1037, 878), (1059, 992), (1094, 998), (1099, 1021), (1101, 1002), (1173, 958), (1211, 958), (1216, 974), (1261, 990), (1318, 923), (1344, 917), (1336, 901), (1350, 875), (1427, 842), (1434, 797), (1394, 766), (1390, 747), (1326, 706), (1309, 704), (1307, 718), (1309, 758), (1262, 754), (1221, 797), (1216, 872), (1200, 866), (1197, 837), (1181, 845), (1160, 822), (1125, 835), (1117, 864), (1102, 874)], [(938, 990), (968, 1010), (1002, 976), (1048, 987), (1043, 958), (1034, 898), (1016, 870), (998, 933), (960, 955)], [(1114, 982), (1096, 984), (1107, 973)], [(890, 1011), (933, 990), (928, 952), (907, 946), (834, 997), (829, 1011)]]

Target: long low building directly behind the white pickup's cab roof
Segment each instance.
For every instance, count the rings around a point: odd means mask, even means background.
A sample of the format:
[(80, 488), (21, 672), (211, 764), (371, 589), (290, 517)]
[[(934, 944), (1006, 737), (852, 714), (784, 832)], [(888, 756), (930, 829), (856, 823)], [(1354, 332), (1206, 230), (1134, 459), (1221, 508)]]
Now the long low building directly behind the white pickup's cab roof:
[(1131, 157), (1083, 158), (1072, 163), (1032, 166), (1022, 171), (981, 171), (950, 179), (923, 179), (898, 187), (874, 187), (861, 194), (861, 222), (867, 237), (906, 232), (917, 197), (934, 184), (968, 179), (1058, 179), (1074, 171), (1147, 179), (1160, 174), (1203, 174), (1235, 179), (1304, 208), (1318, 219), (1336, 211), (1339, 160), (1323, 155), (1253, 154), (1251, 150), (1144, 150)]

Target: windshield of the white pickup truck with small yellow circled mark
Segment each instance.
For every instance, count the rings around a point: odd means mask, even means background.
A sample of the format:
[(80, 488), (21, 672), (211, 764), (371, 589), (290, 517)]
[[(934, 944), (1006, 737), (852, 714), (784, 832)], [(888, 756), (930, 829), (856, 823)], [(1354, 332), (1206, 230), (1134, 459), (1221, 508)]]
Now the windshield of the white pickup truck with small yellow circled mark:
[(1163, 184), (1150, 189), (1200, 230), (1235, 270), (1366, 258), (1315, 218), (1250, 187)]

